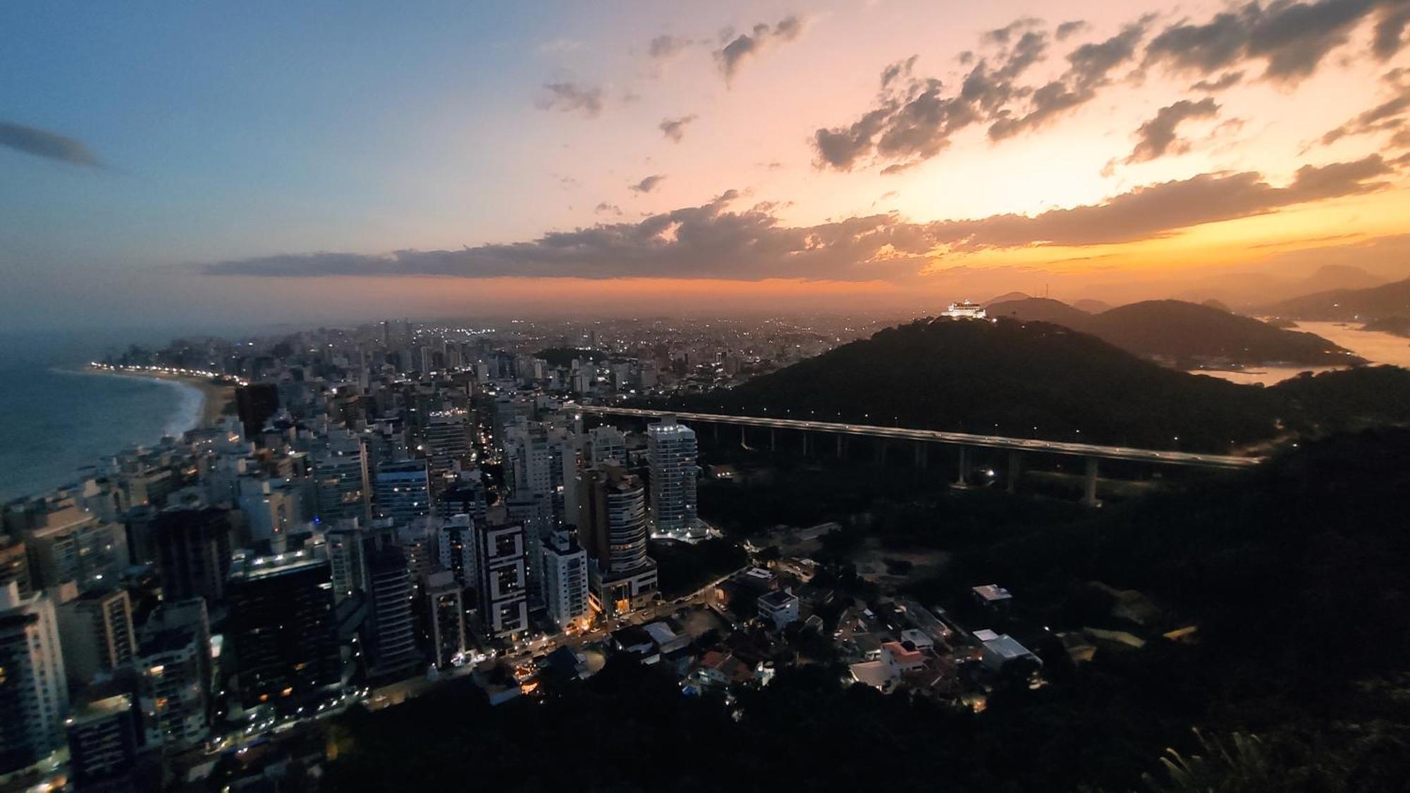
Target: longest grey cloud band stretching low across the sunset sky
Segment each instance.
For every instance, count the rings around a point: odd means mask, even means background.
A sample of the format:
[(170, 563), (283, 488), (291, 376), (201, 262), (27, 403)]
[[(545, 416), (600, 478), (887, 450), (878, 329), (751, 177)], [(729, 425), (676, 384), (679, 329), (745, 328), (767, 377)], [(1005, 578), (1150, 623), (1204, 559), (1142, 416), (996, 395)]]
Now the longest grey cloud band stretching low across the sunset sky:
[[(1304, 167), (1283, 188), (1259, 174), (1203, 174), (1136, 188), (1107, 202), (1035, 216), (911, 223), (895, 213), (785, 227), (768, 203), (732, 212), (729, 190), (702, 205), (550, 231), (523, 243), (389, 255), (314, 253), (221, 261), (210, 275), (454, 278), (804, 278), (870, 281), (919, 272), (938, 257), (1031, 246), (1105, 246), (1166, 237), (1191, 226), (1386, 186), (1378, 155)], [(603, 209), (606, 207), (606, 209)], [(609, 212), (611, 205), (599, 206)]]

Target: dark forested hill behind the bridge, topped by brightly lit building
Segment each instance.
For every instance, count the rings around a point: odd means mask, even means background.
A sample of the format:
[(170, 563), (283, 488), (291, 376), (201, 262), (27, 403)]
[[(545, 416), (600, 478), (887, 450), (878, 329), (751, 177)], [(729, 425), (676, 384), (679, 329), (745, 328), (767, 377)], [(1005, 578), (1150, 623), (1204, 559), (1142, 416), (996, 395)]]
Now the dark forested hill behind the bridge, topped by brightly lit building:
[(1228, 452), (1286, 432), (1407, 422), (1410, 370), (1361, 367), (1262, 388), (1165, 368), (1045, 322), (924, 319), (654, 406)]

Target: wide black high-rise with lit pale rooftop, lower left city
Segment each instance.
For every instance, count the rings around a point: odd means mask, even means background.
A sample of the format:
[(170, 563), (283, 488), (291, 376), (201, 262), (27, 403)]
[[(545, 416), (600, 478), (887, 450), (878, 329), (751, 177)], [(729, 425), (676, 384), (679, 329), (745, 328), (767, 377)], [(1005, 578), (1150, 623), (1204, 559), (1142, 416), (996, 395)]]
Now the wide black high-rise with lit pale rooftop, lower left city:
[(329, 562), (310, 552), (241, 556), (226, 588), (226, 638), (244, 707), (289, 710), (341, 680)]

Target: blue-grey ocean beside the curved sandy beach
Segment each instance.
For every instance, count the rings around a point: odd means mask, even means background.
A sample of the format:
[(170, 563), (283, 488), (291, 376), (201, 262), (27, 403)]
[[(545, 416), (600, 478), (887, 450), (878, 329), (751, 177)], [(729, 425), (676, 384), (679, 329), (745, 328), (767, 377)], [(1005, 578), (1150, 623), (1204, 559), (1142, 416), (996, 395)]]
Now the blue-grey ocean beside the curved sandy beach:
[(193, 385), (82, 371), (111, 340), (0, 336), (0, 501), (79, 481), (102, 457), (200, 420)]

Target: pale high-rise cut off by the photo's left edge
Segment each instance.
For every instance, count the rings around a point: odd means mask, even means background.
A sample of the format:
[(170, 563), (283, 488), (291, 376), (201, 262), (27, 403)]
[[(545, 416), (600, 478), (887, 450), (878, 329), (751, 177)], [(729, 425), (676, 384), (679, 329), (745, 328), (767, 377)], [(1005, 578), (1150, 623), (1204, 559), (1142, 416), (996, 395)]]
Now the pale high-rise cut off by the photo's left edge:
[(0, 773), (49, 756), (65, 742), (69, 710), (58, 617), (45, 593), (0, 587)]

